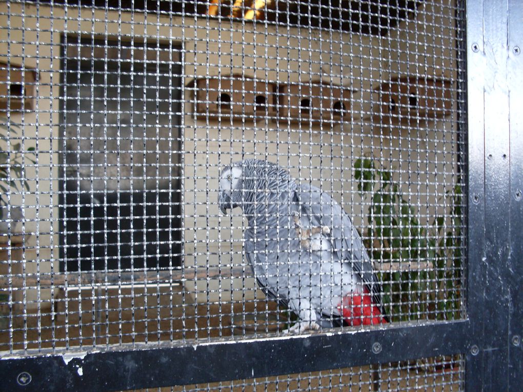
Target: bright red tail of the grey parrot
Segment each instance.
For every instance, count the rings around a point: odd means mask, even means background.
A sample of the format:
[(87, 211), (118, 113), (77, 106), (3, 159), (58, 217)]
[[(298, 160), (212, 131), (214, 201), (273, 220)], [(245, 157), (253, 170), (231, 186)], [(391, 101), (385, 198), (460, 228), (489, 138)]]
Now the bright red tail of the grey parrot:
[(372, 296), (365, 289), (363, 294), (347, 294), (338, 304), (338, 310), (348, 325), (386, 324), (378, 306), (372, 303)]

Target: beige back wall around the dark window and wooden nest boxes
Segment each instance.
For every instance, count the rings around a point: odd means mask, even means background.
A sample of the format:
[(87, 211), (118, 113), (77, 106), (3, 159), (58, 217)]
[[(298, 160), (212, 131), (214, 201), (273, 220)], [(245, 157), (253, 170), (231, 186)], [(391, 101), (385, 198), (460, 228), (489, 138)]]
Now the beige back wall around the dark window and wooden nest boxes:
[[(439, 3), (439, 0), (435, 0)], [(447, 4), (446, 0), (441, 0)], [(433, 8), (434, 7), (434, 8)], [(380, 80), (390, 75), (429, 75), (455, 78), (450, 72), (454, 67), (455, 45), (451, 41), (453, 33), (448, 23), (453, 16), (451, 8), (442, 5), (422, 5), (415, 20), (402, 22), (388, 37), (377, 38), (359, 34), (328, 32), (320, 34), (308, 29), (281, 29), (258, 23), (242, 25), (235, 23), (231, 29), (229, 22), (220, 25), (215, 20), (194, 18), (160, 17), (135, 13), (102, 10), (81, 10), (69, 7), (66, 10), (55, 6), (23, 4), (0, 4), (0, 53), (9, 54), (14, 64), (24, 63), (39, 71), (35, 112), (23, 116), (13, 115), (14, 121), (24, 122), (27, 141), (36, 144), (38, 149), (38, 168), (27, 169), (31, 194), (25, 194), (20, 204), (25, 205), (26, 230), (39, 233), (30, 240), (31, 249), (25, 253), (26, 260), (37, 261), (27, 264), (27, 271), (49, 272), (51, 265), (58, 270), (58, 191), (59, 191), (59, 123), (60, 123), (60, 36), (61, 33), (81, 32), (90, 36), (99, 34), (123, 40), (160, 39), (183, 42), (185, 49), (184, 84), (204, 75), (229, 75), (242, 73), (270, 82), (285, 83), (309, 80), (310, 74), (325, 81), (340, 81), (356, 91), (352, 108), (353, 120), (343, 129), (325, 125), (323, 129), (271, 121), (222, 123), (220, 131), (217, 122), (196, 120), (191, 114), (192, 91), (185, 91), (184, 159), (185, 164), (185, 265), (217, 266), (224, 268), (229, 264), (241, 264), (242, 219), (241, 217), (220, 217), (217, 206), (217, 176), (220, 166), (231, 160), (246, 157), (268, 157), (281, 165), (303, 165), (305, 169), (294, 176), (324, 189), (333, 190), (338, 201), (342, 200), (346, 210), (361, 224), (367, 214), (368, 206), (362, 205), (351, 172), (354, 158), (371, 153), (380, 157), (385, 164), (393, 163), (393, 168), (411, 172), (414, 185), (405, 186), (410, 190), (414, 204), (419, 203), (422, 215), (429, 215), (428, 205), (436, 200), (427, 192), (428, 178), (432, 182), (451, 183), (447, 175), (455, 168), (444, 165), (449, 162), (453, 151), (448, 151), (450, 140), (456, 137), (455, 118), (438, 120), (436, 123), (419, 124), (412, 127), (395, 126), (370, 119), (371, 113), (379, 113), (379, 107), (372, 105), (372, 89), (379, 86)], [(8, 20), (7, 14), (10, 13)], [(436, 13), (430, 17), (430, 13)], [(109, 22), (106, 22), (108, 20)], [(22, 28), (23, 27), (23, 28)], [(242, 31), (244, 30), (244, 32)], [(221, 42), (221, 44), (219, 44)], [(343, 42), (340, 43), (340, 42)], [(417, 43), (412, 43), (417, 42)], [(448, 47), (442, 51), (440, 47)], [(331, 64), (343, 64), (332, 66)], [(339, 77), (340, 74), (344, 76)], [(373, 99), (377, 99), (374, 95)], [(307, 129), (306, 129), (307, 128)], [(443, 132), (445, 131), (445, 132)], [(35, 139), (36, 138), (36, 139)], [(268, 142), (268, 143), (267, 143)], [(219, 147), (221, 146), (221, 147)], [(411, 149), (409, 153), (407, 150)], [(438, 151), (435, 153), (434, 151)], [(219, 154), (218, 154), (219, 153)], [(276, 156), (276, 154), (278, 154)], [(289, 156), (291, 156), (289, 162)], [(312, 158), (311, 158), (312, 156)], [(397, 160), (398, 158), (401, 160)], [(455, 159), (454, 159), (455, 160)], [(427, 164), (428, 163), (428, 164)], [(310, 165), (322, 167), (309, 171)], [(344, 168), (341, 170), (340, 168)], [(192, 179), (195, 175), (203, 179)], [(323, 183), (320, 180), (323, 178)], [(208, 180), (208, 182), (207, 182)], [(419, 182), (419, 185), (415, 183)], [(206, 203), (206, 188), (209, 202)], [(332, 188), (331, 188), (332, 187)], [(435, 186), (434, 186), (435, 187)], [(441, 186), (439, 186), (441, 188)], [(442, 189), (439, 190), (441, 192)], [(198, 205), (197, 203), (201, 204)], [(36, 205), (39, 205), (38, 210)], [(428, 212), (428, 213), (427, 213)], [(197, 215), (209, 215), (194, 217)], [(220, 227), (220, 229), (218, 229)], [(234, 241), (231, 241), (234, 238)], [(218, 256), (221, 255), (221, 256)], [(247, 268), (248, 270), (248, 268)], [(218, 294), (212, 292), (221, 285), (222, 300), (231, 296), (234, 299), (252, 298), (255, 283), (252, 279), (224, 279), (186, 283), (186, 290), (198, 292), (198, 301), (217, 301)], [(245, 287), (242, 292), (241, 288)], [(234, 291), (238, 290), (238, 291)], [(234, 294), (233, 294), (234, 291)], [(259, 293), (257, 296), (259, 297)], [(49, 298), (49, 292), (40, 293), (41, 299)], [(28, 301), (36, 299), (36, 293), (28, 293)]]

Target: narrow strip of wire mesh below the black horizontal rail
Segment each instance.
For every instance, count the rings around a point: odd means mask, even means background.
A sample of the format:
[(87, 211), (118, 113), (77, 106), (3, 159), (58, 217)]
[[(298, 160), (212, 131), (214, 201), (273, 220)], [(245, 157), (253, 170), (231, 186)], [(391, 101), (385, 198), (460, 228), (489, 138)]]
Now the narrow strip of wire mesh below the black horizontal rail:
[[(412, 362), (383, 363), (321, 372), (243, 379), (212, 384), (159, 388), (183, 392), (231, 391), (458, 391), (464, 381), (461, 356), (438, 356)], [(148, 389), (152, 391), (153, 389)], [(156, 389), (154, 389), (156, 390)]]

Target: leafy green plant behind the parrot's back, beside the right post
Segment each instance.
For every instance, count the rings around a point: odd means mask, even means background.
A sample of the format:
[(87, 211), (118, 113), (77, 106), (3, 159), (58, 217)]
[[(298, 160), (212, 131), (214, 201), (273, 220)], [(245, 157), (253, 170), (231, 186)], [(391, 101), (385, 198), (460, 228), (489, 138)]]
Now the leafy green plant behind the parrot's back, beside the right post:
[(354, 177), (362, 199), (372, 196), (365, 246), (379, 262), (432, 262), (432, 268), (380, 273), (383, 305), (392, 321), (460, 317), (462, 192), (446, 192), (449, 213), (419, 223), (391, 171), (371, 158), (357, 159)]

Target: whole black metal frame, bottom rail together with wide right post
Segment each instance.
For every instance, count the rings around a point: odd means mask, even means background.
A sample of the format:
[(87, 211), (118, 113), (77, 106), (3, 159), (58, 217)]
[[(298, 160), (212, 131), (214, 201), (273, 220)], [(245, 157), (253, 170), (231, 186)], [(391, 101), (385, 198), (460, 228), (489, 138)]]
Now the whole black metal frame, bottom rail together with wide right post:
[(467, 2), (467, 319), (234, 344), (13, 356), (0, 360), (2, 388), (119, 390), (461, 353), (465, 390), (515, 390), (523, 382), (522, 13), (519, 0)]

